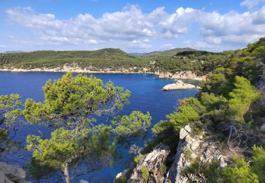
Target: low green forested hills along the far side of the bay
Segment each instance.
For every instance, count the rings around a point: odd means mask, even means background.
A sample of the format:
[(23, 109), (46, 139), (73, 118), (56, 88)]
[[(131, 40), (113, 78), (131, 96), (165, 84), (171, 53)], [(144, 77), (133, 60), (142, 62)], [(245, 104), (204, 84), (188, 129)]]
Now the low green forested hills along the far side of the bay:
[(96, 51), (32, 51), (23, 53), (1, 53), (0, 68), (62, 68), (64, 65), (89, 70), (112, 71), (129, 68), (131, 72), (192, 71), (205, 75), (225, 62), (232, 51), (211, 53), (194, 49), (172, 49), (133, 56), (120, 49)]

